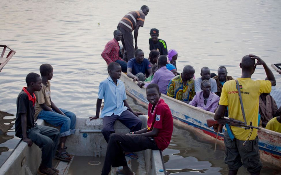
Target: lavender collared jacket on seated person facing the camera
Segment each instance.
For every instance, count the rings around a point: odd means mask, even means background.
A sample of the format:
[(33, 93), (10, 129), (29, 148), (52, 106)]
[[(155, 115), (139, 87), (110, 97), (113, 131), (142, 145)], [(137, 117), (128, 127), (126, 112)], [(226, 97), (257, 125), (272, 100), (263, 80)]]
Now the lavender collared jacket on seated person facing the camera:
[(217, 96), (215, 93), (210, 92), (209, 98), (205, 105), (203, 91), (200, 91), (200, 92), (196, 92), (196, 95), (193, 97), (192, 101), (189, 104), (213, 113), (215, 109), (218, 107), (219, 101), (220, 101), (220, 97)]

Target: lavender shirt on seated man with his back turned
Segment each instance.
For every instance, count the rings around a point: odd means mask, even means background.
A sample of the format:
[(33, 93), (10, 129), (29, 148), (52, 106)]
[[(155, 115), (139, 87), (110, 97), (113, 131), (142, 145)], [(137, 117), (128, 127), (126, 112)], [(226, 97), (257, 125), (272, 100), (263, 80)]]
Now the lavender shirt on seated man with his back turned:
[[(153, 79), (150, 83), (155, 83), (159, 86), (159, 90), (162, 94), (167, 93), (167, 86), (171, 79), (173, 79), (175, 75), (173, 72), (169, 71), (166, 66), (158, 69), (153, 76)], [(146, 88), (150, 83), (146, 83), (144, 87)]]

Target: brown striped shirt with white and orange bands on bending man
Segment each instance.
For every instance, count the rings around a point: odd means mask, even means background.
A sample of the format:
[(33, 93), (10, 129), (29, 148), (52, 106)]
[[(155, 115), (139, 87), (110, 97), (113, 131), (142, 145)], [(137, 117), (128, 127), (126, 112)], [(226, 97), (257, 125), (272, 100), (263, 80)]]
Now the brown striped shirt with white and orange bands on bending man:
[(122, 27), (128, 32), (132, 32), (136, 25), (143, 27), (143, 24), (145, 22), (145, 14), (139, 10), (139, 11), (132, 11), (127, 14), (119, 21), (119, 24), (117, 27)]

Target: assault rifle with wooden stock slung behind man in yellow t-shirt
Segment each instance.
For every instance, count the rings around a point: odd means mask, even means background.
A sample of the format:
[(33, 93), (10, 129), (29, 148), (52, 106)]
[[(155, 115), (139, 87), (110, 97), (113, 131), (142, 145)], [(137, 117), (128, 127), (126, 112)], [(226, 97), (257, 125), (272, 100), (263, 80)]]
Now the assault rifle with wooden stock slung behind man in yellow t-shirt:
[[(249, 129), (258, 129), (260, 130), (261, 128), (260, 127), (256, 127), (256, 126), (253, 126), (252, 125), (252, 122), (250, 122), (250, 125), (247, 125), (245, 124), (244, 122), (240, 121), (240, 120), (236, 120), (236, 119), (233, 119), (233, 118), (228, 118), (228, 117), (224, 117), (224, 118), (220, 118), (220, 119), (207, 119), (207, 125), (208, 127), (212, 127), (214, 125), (231, 125), (231, 126), (237, 126), (237, 127), (240, 127), (240, 128), (244, 128), (245, 130), (249, 130)], [(222, 127), (220, 127), (220, 131), (219, 132), (222, 132)]]

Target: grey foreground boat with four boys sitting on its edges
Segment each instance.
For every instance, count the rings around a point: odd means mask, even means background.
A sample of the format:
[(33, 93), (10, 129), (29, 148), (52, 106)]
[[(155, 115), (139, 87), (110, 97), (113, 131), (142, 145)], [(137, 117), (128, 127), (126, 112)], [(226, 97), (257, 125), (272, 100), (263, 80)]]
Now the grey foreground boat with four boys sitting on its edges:
[[(141, 115), (143, 128), (147, 124), (147, 115)], [(49, 125), (41, 119), (37, 119), (38, 125)], [(90, 121), (87, 118), (76, 118), (76, 132), (68, 136), (67, 151), (73, 155), (70, 162), (56, 161), (55, 168), (60, 170), (59, 175), (67, 174), (101, 174), (102, 164), (106, 155), (107, 143), (101, 133), (102, 119)], [(58, 128), (58, 127), (56, 127)], [(121, 122), (114, 125), (116, 133), (128, 133), (128, 128)], [(59, 129), (59, 128), (58, 128)], [(126, 157), (128, 166), (138, 175), (165, 175), (164, 161), (160, 150), (144, 150), (136, 152), (138, 159), (132, 160)], [(28, 147), (21, 140), (0, 168), (0, 175), (34, 175), (41, 163), (41, 149), (33, 144)], [(121, 167), (119, 167), (121, 168)], [(117, 168), (111, 168), (110, 174), (115, 174)]]

